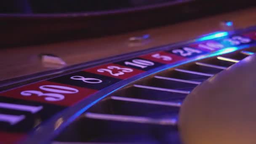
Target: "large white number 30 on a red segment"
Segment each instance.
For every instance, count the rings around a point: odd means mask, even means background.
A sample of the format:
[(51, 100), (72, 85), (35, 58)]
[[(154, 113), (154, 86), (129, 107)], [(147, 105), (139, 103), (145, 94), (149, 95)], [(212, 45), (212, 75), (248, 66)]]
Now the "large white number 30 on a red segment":
[(59, 93), (77, 93), (78, 90), (75, 88), (69, 88), (67, 86), (59, 86), (59, 85), (42, 85), (39, 87), (41, 90), (54, 92), (54, 93), (43, 93), (41, 91), (22, 91), (22, 96), (31, 96), (35, 94), (37, 96), (46, 96), (46, 101), (61, 101), (65, 98), (64, 95)]

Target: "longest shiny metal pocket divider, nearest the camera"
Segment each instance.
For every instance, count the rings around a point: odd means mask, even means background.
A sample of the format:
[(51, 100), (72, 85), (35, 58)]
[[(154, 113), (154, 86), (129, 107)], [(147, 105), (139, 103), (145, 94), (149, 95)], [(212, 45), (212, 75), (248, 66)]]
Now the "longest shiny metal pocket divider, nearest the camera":
[(109, 114), (98, 114), (86, 112), (85, 117), (91, 119), (99, 120), (114, 120), (121, 122), (133, 122), (133, 123), (149, 123), (149, 124), (158, 124), (158, 125), (176, 125), (176, 119), (153, 119), (149, 117), (137, 117), (137, 116), (127, 116), (127, 115), (109, 115)]

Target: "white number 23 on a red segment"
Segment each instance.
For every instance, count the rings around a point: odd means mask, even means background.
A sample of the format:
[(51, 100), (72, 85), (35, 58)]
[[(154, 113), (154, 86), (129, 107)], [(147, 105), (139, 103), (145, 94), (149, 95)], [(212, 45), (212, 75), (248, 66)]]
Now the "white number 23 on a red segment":
[[(113, 73), (111, 69), (117, 69), (120, 70), (117, 73)], [(121, 68), (121, 67), (117, 67), (117, 66), (108, 66), (107, 69), (98, 69), (97, 72), (108, 72), (110, 73), (110, 75), (114, 75), (114, 76), (119, 76), (119, 75), (124, 75), (125, 72), (133, 72), (133, 69), (130, 68)]]

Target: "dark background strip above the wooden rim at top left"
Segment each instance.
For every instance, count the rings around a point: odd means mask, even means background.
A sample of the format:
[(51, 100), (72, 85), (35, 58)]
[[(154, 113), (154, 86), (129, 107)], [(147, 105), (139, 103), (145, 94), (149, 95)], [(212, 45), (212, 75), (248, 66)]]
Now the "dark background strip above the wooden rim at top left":
[(3, 0), (0, 2), (0, 13), (80, 13), (134, 8), (171, 1), (177, 0)]

